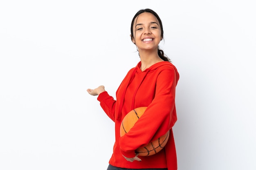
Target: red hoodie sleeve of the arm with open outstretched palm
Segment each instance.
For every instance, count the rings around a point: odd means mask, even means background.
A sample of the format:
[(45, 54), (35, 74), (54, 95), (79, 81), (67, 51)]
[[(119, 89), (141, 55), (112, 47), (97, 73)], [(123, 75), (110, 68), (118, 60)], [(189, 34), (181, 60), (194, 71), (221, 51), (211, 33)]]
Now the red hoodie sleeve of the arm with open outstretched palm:
[(100, 93), (97, 100), (100, 102), (101, 108), (108, 115), (108, 117), (110, 117), (112, 121), (115, 121), (116, 100), (114, 100), (114, 98), (106, 91)]

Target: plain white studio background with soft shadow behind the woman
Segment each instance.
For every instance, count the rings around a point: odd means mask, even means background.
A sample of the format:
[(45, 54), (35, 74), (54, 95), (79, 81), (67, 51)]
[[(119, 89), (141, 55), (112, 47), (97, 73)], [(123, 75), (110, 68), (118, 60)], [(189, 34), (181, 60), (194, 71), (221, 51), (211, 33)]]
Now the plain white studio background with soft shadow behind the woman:
[(253, 2), (2, 0), (0, 170), (106, 170), (114, 123), (86, 89), (115, 97), (139, 62), (130, 22), (144, 8), (180, 73), (178, 169), (255, 170)]

